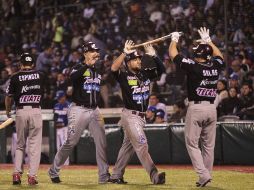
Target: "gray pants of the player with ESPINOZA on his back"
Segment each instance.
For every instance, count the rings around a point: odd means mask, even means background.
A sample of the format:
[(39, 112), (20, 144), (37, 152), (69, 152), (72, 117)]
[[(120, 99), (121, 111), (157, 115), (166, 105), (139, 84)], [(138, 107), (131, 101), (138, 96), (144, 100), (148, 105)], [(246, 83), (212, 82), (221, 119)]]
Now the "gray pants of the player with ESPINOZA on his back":
[(40, 108), (24, 106), (16, 111), (17, 148), (14, 173), (23, 173), (23, 159), (26, 147), (29, 157), (28, 175), (36, 176), (41, 159), (42, 115)]

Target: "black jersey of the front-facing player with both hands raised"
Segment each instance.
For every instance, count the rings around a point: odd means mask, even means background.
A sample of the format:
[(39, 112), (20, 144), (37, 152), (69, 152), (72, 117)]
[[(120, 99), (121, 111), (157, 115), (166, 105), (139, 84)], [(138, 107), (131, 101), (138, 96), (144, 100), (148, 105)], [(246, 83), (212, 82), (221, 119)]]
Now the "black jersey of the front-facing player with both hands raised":
[[(155, 58), (155, 61), (163, 65), (159, 58)], [(124, 72), (118, 70), (112, 73), (121, 86), (125, 108), (145, 112), (148, 106), (151, 80), (161, 75), (158, 69), (156, 67), (142, 69), (137, 74), (128, 70)]]

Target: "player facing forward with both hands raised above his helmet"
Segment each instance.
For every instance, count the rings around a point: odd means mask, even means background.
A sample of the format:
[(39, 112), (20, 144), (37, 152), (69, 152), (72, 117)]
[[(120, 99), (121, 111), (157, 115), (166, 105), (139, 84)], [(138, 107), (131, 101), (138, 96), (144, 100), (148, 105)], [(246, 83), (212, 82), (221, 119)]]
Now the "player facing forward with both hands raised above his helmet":
[[(148, 106), (150, 82), (152, 79), (159, 77), (165, 71), (165, 68), (162, 61), (156, 56), (153, 47), (147, 45), (145, 46), (145, 51), (154, 59), (156, 67), (142, 69), (141, 55), (135, 50), (130, 50), (133, 45), (134, 43), (131, 40), (127, 40), (124, 52), (111, 66), (114, 77), (120, 83), (125, 107), (121, 116), (124, 140), (113, 168), (111, 182), (118, 184), (127, 183), (123, 179), (125, 167), (134, 152), (136, 152), (152, 183), (164, 184), (165, 172), (158, 173), (148, 153), (148, 144), (143, 127), (145, 126), (145, 111)], [(120, 67), (124, 61), (127, 69), (123, 72)]]

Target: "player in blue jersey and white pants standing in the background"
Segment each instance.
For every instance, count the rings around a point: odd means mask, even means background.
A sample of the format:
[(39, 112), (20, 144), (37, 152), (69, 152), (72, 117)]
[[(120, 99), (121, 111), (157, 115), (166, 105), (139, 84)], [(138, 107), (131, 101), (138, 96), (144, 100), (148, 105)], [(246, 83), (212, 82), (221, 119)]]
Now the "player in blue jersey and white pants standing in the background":
[[(62, 90), (57, 92), (56, 97), (58, 103), (56, 103), (54, 106), (54, 121), (56, 127), (56, 148), (58, 151), (67, 139), (68, 132), (67, 110), (69, 108), (70, 103), (66, 101), (66, 95)], [(69, 159), (66, 160), (64, 165), (69, 165)]]

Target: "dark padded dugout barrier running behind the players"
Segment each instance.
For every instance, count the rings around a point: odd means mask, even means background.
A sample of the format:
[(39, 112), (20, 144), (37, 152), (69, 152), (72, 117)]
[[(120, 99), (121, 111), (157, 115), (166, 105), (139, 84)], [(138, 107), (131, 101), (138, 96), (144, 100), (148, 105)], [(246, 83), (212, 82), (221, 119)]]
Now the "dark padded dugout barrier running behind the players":
[[(6, 118), (0, 117), (2, 122)], [(50, 112), (43, 114), (43, 136), (48, 137), (49, 163), (56, 153), (55, 128)], [(123, 140), (123, 130), (118, 125), (105, 125), (107, 137), (107, 155), (110, 164), (114, 164)], [(0, 162), (6, 163), (7, 138), (11, 127), (0, 130)], [(156, 164), (189, 164), (185, 140), (184, 123), (146, 125), (149, 152)], [(95, 145), (89, 131), (85, 130), (71, 155), (73, 164), (96, 164)], [(136, 155), (131, 164), (139, 164)], [(215, 164), (254, 164), (254, 123), (251, 121), (218, 122), (215, 144)]]

